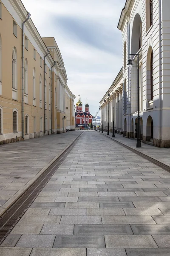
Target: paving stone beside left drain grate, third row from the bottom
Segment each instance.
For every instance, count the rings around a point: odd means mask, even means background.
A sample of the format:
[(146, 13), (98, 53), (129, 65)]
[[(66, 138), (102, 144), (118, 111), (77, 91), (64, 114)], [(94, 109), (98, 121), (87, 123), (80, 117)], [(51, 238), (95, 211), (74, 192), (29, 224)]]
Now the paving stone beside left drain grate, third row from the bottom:
[(40, 234), (43, 224), (20, 224), (18, 223), (11, 234)]

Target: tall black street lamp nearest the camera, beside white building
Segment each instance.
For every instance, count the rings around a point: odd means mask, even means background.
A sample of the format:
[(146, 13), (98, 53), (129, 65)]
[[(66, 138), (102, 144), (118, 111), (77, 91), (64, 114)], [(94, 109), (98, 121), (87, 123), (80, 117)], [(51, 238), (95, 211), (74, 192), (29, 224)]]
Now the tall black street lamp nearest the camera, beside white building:
[[(134, 57), (137, 57), (137, 83), (138, 83), (138, 126), (137, 126), (137, 143), (136, 143), (136, 148), (141, 148), (142, 145), (141, 145), (141, 124), (140, 124), (140, 114), (139, 114), (139, 110), (140, 110), (140, 102), (139, 102), (139, 53), (136, 53), (136, 54), (130, 54), (131, 55), (134, 55)], [(127, 66), (129, 68), (132, 68), (133, 67), (133, 60), (132, 59), (129, 59), (127, 61)]]

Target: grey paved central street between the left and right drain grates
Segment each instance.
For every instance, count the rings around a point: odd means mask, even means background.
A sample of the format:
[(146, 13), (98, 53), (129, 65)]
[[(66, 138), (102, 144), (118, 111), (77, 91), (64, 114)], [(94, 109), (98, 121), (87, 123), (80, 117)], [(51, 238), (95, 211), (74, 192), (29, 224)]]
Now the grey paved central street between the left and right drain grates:
[(0, 255), (170, 256), (170, 173), (85, 131)]

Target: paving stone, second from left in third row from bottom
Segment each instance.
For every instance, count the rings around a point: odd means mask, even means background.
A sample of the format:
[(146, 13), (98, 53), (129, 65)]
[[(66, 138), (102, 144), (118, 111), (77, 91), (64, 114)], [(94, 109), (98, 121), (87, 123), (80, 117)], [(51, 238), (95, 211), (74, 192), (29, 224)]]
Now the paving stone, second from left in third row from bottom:
[(74, 225), (44, 224), (41, 235), (73, 235)]

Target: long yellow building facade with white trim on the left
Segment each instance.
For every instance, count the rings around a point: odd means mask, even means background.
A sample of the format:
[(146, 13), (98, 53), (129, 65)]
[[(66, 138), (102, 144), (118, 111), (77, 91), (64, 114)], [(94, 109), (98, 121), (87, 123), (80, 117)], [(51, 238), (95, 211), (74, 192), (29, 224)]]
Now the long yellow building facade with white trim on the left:
[(0, 144), (74, 130), (75, 96), (56, 42), (49, 50), (45, 40), (55, 42), (20, 0), (0, 1)]

